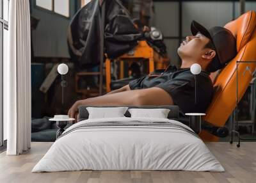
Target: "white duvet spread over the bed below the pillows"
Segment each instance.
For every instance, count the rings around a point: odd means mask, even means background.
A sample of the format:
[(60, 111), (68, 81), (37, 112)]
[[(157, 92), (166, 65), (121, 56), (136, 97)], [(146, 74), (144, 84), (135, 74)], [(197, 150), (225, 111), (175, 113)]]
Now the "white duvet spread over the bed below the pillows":
[[(32, 172), (73, 170), (225, 171), (204, 142), (193, 134), (168, 127), (92, 127), (93, 122), (170, 122), (160, 118), (84, 120), (57, 139)], [(191, 129), (190, 129), (191, 130)]]

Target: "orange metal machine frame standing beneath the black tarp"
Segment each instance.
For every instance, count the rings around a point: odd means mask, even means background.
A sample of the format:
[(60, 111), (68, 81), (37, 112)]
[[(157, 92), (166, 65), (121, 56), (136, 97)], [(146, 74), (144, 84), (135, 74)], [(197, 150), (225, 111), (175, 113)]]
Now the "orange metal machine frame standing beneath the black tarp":
[[(148, 60), (149, 72), (153, 72), (155, 69), (166, 68), (170, 61), (160, 56), (152, 47), (150, 47), (146, 41), (140, 41), (134, 51), (120, 56), (116, 61), (120, 61), (120, 79), (124, 78), (124, 60), (140, 61), (138, 58), (145, 58)], [(106, 92), (111, 92), (111, 61), (106, 59)]]

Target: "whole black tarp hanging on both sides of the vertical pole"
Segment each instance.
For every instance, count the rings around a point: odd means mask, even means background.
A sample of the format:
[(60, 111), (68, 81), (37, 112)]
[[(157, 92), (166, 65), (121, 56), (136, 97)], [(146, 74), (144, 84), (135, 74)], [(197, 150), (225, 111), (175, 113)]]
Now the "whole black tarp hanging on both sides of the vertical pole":
[[(134, 26), (129, 12), (120, 1), (105, 0), (103, 16), (101, 8), (99, 0), (92, 0), (76, 13), (68, 28), (70, 56), (72, 61), (83, 68), (99, 65), (102, 31), (104, 31), (104, 54), (108, 58), (117, 58), (131, 50), (143, 36), (143, 33)], [(100, 26), (102, 22), (104, 26)]]

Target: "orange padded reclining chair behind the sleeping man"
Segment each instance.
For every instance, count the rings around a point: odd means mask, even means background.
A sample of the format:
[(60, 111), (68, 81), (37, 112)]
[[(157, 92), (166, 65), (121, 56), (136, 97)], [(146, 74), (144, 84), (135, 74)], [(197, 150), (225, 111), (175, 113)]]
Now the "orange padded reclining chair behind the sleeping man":
[[(237, 39), (237, 56), (228, 63), (216, 76), (212, 74), (214, 84), (214, 97), (208, 107), (204, 121), (212, 125), (223, 127), (236, 108), (236, 61), (256, 61), (256, 12), (250, 11), (241, 15), (236, 20), (229, 22), (225, 28), (229, 29)], [(240, 100), (248, 88), (252, 75), (244, 74), (246, 67), (253, 70), (255, 63), (238, 63), (238, 100)], [(214, 78), (216, 76), (216, 78)], [(207, 131), (202, 131), (200, 137), (204, 141), (218, 141), (218, 137)]]

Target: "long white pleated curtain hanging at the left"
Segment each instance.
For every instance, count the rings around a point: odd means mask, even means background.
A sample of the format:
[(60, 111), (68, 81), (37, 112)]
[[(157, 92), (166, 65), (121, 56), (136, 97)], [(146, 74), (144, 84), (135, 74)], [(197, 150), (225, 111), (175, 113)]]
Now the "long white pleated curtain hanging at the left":
[(4, 61), (4, 120), (8, 155), (31, 145), (31, 46), (29, 0), (11, 0), (8, 60)]

